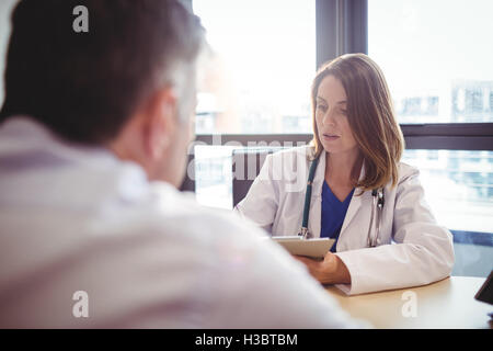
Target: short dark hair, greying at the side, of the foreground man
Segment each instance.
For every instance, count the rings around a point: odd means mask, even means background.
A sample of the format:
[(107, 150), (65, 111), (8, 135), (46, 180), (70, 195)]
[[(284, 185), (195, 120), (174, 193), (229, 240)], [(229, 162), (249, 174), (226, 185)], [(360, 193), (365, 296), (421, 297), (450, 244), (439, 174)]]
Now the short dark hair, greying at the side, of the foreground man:
[[(74, 23), (79, 5), (87, 32)], [(198, 18), (175, 0), (21, 0), (0, 121), (28, 115), (68, 140), (105, 143), (194, 64), (203, 35)]]

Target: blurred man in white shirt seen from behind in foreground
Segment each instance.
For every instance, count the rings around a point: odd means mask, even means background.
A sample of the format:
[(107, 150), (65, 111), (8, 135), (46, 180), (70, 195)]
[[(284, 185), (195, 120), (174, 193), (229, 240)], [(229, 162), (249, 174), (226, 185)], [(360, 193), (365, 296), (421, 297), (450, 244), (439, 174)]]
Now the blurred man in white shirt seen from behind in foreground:
[[(88, 9), (74, 31), (73, 8)], [(253, 224), (176, 188), (204, 42), (177, 1), (22, 0), (0, 114), (0, 327), (357, 327)]]

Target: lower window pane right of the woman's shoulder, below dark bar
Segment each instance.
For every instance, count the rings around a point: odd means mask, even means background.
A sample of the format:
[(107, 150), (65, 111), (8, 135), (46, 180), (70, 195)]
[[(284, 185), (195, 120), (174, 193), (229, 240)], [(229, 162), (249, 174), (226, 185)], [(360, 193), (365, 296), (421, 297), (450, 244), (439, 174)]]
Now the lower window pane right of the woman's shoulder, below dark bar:
[(405, 150), (420, 169), (426, 201), (438, 223), (461, 231), (493, 228), (493, 151)]

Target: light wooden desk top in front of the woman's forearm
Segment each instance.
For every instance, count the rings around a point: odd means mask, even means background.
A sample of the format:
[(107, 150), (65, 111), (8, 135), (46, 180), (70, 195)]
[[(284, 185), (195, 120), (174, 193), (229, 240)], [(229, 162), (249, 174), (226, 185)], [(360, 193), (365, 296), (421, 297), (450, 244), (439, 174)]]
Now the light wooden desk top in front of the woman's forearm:
[[(368, 320), (375, 328), (492, 328), (493, 306), (474, 299), (484, 278), (450, 276), (417, 287), (347, 296), (335, 286), (326, 287), (351, 316)], [(416, 295), (416, 316), (404, 317), (402, 307)], [(405, 296), (405, 295), (404, 295)]]

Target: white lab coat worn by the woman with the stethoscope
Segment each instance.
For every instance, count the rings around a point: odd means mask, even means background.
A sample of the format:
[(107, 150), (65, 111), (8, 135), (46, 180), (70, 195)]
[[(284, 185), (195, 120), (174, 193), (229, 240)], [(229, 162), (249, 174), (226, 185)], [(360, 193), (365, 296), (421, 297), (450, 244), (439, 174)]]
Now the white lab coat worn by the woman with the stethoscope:
[[(312, 147), (303, 146), (267, 156), (259, 177), (236, 211), (272, 235), (298, 234), (310, 152), (313, 152)], [(320, 157), (312, 185), (308, 227), (314, 237), (320, 237), (324, 171), (325, 152)], [(401, 162), (397, 186), (388, 184), (385, 188), (376, 248), (367, 245), (374, 204), (371, 192), (357, 196), (359, 192), (354, 192), (336, 245), (336, 254), (347, 267), (352, 283), (339, 284), (337, 287), (354, 295), (424, 285), (450, 274), (452, 237), (448, 229), (436, 223), (426, 204), (417, 169)]]

